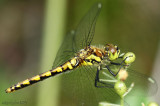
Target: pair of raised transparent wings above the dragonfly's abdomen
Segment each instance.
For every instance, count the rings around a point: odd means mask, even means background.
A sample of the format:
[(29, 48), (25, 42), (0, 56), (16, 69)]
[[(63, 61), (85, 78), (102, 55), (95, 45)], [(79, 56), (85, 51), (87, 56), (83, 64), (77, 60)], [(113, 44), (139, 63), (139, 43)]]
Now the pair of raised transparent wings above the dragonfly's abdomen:
[(95, 4), (83, 17), (76, 30), (73, 30), (67, 34), (61, 47), (59, 48), (52, 68), (68, 61), (80, 49), (90, 45), (94, 36), (95, 24), (100, 10), (101, 4)]

